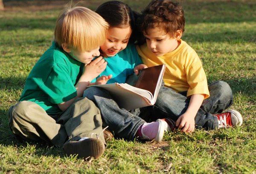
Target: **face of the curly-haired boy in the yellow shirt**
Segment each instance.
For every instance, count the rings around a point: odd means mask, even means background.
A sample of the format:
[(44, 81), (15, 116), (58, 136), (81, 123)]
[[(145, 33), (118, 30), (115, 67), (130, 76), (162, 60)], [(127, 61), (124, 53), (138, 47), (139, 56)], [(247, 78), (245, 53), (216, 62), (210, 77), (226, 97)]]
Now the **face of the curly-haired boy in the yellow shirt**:
[(177, 33), (177, 37), (170, 37), (169, 34), (165, 34), (161, 28), (154, 27), (148, 29), (148, 34), (144, 33), (144, 36), (146, 37), (149, 50), (160, 57), (174, 51), (179, 46), (180, 43), (177, 40), (180, 39), (181, 33), (180, 35)]

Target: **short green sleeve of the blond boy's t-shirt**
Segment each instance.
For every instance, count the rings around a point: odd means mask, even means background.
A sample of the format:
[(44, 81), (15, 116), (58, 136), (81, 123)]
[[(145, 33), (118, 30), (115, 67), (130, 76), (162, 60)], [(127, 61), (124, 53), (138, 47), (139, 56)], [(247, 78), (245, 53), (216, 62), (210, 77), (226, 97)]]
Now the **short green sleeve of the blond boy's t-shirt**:
[(56, 64), (40, 88), (49, 96), (48, 100), (58, 104), (76, 97), (76, 88), (67, 66)]

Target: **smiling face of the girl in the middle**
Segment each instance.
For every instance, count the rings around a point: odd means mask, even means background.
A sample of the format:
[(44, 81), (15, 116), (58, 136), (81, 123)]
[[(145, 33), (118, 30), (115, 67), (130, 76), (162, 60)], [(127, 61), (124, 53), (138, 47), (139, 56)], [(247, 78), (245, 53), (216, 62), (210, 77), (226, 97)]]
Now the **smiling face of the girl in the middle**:
[(117, 28), (110, 27), (108, 29), (105, 43), (100, 47), (102, 52), (108, 56), (113, 57), (118, 52), (126, 48), (131, 37), (131, 28)]

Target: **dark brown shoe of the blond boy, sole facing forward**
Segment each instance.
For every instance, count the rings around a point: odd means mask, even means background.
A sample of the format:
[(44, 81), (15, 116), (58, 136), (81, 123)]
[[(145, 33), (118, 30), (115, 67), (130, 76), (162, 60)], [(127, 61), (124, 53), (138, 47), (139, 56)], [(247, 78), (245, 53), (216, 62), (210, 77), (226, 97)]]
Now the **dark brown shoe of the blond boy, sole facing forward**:
[(91, 157), (97, 159), (102, 156), (105, 151), (105, 145), (99, 139), (87, 138), (82, 141), (67, 142), (64, 144), (63, 150), (67, 156), (70, 156), (71, 154), (78, 154), (78, 157), (84, 158), (84, 160), (88, 160)]

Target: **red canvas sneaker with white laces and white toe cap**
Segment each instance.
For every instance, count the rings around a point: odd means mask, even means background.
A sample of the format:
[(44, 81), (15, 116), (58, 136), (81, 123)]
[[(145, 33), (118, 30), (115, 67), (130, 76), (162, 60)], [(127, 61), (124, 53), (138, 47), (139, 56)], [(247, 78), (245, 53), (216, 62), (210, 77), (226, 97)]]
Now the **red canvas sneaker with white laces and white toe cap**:
[(218, 118), (218, 128), (241, 126), (243, 123), (241, 114), (236, 110), (228, 110), (227, 112), (214, 115)]

